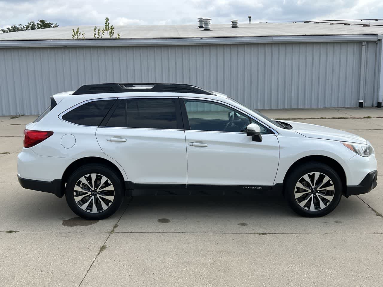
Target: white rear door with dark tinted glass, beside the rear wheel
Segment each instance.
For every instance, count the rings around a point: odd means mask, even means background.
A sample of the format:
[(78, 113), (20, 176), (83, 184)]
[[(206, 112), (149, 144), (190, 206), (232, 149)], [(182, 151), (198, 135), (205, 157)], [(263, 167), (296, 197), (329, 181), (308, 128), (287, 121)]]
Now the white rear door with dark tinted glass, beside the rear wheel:
[(186, 184), (179, 99), (137, 97), (118, 101), (96, 131), (103, 152), (124, 168), (133, 184)]

